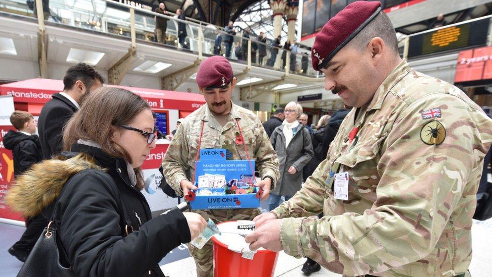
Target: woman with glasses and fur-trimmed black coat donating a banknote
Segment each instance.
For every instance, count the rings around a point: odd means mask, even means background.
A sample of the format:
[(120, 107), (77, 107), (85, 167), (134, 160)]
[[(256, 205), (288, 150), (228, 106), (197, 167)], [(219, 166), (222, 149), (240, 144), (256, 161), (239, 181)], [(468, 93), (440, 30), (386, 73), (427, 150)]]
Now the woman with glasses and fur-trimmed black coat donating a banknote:
[[(145, 100), (125, 89), (100, 88), (66, 126), (64, 147), (70, 152), (21, 176), (9, 203), (25, 215), (45, 209), (56, 228), (60, 263), (74, 275), (163, 276), (159, 261), (196, 238), (206, 222), (178, 209), (152, 218), (140, 192), (140, 167), (155, 137)], [(30, 201), (18, 201), (26, 189)]]

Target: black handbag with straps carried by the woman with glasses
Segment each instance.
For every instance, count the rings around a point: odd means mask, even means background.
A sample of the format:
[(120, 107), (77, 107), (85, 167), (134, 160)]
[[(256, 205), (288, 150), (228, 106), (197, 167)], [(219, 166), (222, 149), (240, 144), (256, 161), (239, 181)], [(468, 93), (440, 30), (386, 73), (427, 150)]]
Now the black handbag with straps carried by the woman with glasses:
[[(70, 180), (69, 180), (70, 181)], [(44, 228), (43, 233), (41, 236), (39, 236), (36, 244), (34, 245), (33, 249), (31, 250), (31, 253), (27, 257), (26, 261), (24, 262), (24, 265), (22, 265), (21, 270), (19, 273), (17, 273), (18, 277), (69, 277), (69, 276), (77, 276), (70, 265), (65, 265), (63, 264), (63, 260), (60, 260), (60, 251), (62, 251), (62, 254), (64, 257), (68, 257), (67, 254), (65, 253), (65, 250), (63, 247), (59, 247), (57, 244), (56, 240), (56, 224), (54, 221), (54, 215), (56, 214), (56, 209), (57, 209), (57, 204), (58, 200), (61, 198), (61, 195), (63, 195), (65, 188), (67, 187), (69, 181), (65, 183), (63, 189), (61, 189), (60, 194), (58, 195), (58, 198), (56, 199), (56, 203), (54, 205), (53, 212), (51, 214), (51, 219), (48, 223), (48, 226)], [(116, 187), (114, 182), (109, 178), (108, 181), (109, 183), (113, 186), (113, 188)], [(125, 206), (123, 205), (123, 202), (121, 201), (121, 196), (116, 189), (116, 193), (118, 194), (118, 200), (119, 200), (119, 208), (120, 208), (120, 214), (123, 214), (124, 217), (121, 218), (121, 227), (122, 230), (124, 230), (123, 236), (128, 236), (129, 233), (132, 233), (133, 227), (131, 227), (131, 221), (129, 219), (128, 213), (126, 211)], [(65, 262), (67, 263), (67, 262)]]

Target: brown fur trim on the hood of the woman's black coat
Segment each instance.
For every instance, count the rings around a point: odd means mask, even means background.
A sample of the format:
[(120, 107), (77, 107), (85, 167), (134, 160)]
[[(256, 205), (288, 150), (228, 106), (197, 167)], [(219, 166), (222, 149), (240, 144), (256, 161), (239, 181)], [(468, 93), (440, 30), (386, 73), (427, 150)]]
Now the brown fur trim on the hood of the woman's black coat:
[(84, 153), (68, 159), (60, 156), (43, 160), (16, 179), (5, 201), (24, 217), (33, 217), (58, 197), (72, 176), (87, 169), (102, 170), (92, 156)]

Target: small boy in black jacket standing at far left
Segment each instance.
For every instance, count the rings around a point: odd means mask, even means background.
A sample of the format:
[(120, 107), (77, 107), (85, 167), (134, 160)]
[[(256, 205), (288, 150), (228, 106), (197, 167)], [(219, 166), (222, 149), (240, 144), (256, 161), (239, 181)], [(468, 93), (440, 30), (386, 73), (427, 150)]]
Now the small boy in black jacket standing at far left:
[[(34, 135), (36, 124), (31, 114), (16, 110), (10, 116), (10, 122), (18, 131), (9, 130), (4, 137), (4, 144), (5, 148), (12, 150), (14, 173), (17, 178), (31, 165), (41, 161), (41, 144), (38, 136)], [(42, 215), (27, 217), (27, 229), (19, 241), (8, 250), (9, 253), (24, 262), (46, 224), (47, 221)]]

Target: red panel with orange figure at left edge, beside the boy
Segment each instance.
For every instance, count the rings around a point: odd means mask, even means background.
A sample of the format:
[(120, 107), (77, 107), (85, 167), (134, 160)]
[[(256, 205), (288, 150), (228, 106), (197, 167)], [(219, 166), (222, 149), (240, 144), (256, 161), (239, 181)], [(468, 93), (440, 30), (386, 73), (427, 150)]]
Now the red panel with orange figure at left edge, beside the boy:
[(4, 135), (13, 126), (0, 126), (0, 217), (14, 219), (14, 220), (24, 220), (24, 218), (13, 212), (5, 204), (5, 196), (7, 192), (14, 184), (14, 159), (12, 158), (12, 151), (7, 150), (4, 146)]

